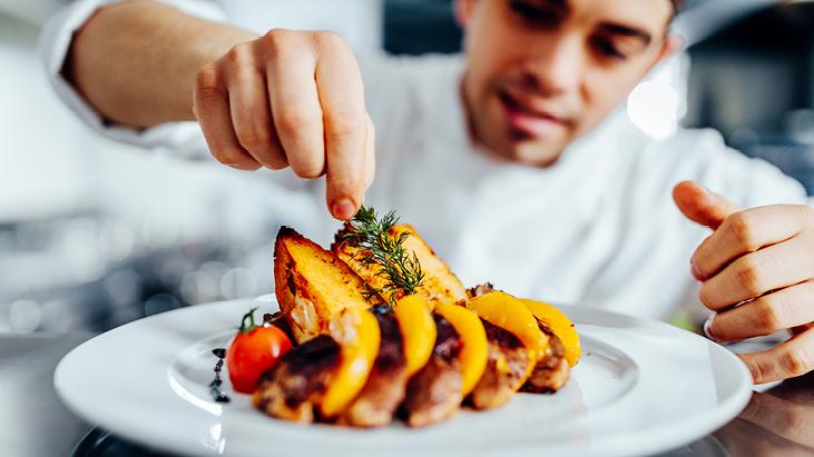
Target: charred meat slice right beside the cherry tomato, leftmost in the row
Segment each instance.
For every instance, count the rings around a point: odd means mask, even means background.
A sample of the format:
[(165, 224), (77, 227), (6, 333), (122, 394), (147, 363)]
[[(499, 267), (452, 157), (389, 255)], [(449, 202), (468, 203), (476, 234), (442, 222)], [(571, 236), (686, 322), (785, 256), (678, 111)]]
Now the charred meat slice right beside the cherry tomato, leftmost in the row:
[(327, 335), (295, 346), (263, 375), (255, 406), (281, 419), (314, 421), (314, 407), (324, 398), (340, 355), (340, 345)]

